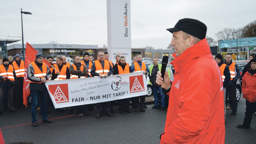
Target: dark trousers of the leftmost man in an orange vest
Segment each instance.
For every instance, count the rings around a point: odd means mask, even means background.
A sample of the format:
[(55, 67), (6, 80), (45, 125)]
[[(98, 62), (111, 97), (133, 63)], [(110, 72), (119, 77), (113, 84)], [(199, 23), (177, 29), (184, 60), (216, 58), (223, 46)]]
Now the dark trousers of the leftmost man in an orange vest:
[[(7, 93), (8, 93), (9, 110), (14, 110), (14, 102), (13, 102), (14, 87), (7, 89)], [(2, 108), (3, 108), (4, 95), (5, 95), (5, 88), (0, 88), (0, 112), (2, 112)]]

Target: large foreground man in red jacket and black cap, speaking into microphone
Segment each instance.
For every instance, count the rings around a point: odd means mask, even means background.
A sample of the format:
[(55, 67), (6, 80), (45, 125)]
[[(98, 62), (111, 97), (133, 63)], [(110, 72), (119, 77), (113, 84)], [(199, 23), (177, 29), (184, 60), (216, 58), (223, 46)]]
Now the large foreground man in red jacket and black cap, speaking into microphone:
[(171, 45), (175, 49), (174, 81), (160, 71), (157, 84), (169, 95), (160, 143), (224, 143), (223, 84), (218, 64), (205, 38), (207, 27), (191, 18), (180, 19)]

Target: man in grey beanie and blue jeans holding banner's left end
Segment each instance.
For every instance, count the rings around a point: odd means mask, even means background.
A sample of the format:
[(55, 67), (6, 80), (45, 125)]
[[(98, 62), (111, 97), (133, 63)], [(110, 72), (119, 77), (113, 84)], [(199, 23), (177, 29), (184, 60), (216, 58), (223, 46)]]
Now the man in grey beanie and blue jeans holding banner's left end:
[(31, 94), (32, 125), (37, 127), (36, 109), (38, 100), (41, 101), (41, 116), (45, 123), (52, 123), (47, 114), (47, 89), (44, 83), (51, 77), (51, 71), (43, 62), (44, 56), (36, 54), (36, 60), (28, 65), (29, 90)]

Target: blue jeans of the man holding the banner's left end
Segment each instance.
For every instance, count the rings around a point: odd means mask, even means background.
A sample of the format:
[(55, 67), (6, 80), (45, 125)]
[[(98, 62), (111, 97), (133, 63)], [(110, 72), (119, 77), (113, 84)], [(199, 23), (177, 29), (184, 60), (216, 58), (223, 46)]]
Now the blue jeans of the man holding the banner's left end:
[(32, 114), (32, 122), (37, 122), (36, 120), (36, 109), (38, 100), (40, 97), (41, 101), (41, 116), (43, 120), (48, 119), (47, 114), (47, 91), (30, 91), (31, 94), (31, 114)]

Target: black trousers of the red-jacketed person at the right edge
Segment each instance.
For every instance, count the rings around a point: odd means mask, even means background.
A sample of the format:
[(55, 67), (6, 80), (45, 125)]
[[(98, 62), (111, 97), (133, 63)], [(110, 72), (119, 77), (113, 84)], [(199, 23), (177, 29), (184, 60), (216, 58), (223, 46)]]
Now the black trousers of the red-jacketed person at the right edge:
[(245, 109), (246, 111), (245, 111), (244, 125), (250, 126), (252, 121), (252, 115), (256, 108), (256, 102), (249, 102), (248, 100), (246, 100), (245, 104), (246, 104), (246, 109)]

